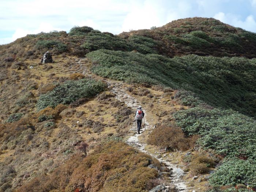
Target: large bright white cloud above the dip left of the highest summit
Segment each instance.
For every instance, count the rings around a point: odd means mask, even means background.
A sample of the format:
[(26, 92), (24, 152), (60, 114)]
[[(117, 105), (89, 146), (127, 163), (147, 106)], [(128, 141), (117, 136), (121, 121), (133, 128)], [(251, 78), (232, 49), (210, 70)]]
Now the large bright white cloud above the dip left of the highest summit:
[(186, 0), (180, 0), (178, 3), (168, 0), (134, 1), (124, 19), (122, 31), (159, 27), (173, 20), (188, 17), (191, 9), (190, 3)]

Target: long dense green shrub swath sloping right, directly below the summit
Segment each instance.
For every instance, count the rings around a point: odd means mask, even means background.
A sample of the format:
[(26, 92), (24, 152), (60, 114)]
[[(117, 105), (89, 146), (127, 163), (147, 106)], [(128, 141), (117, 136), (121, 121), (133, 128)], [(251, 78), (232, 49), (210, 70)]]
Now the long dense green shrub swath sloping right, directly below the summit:
[(164, 84), (191, 91), (212, 106), (256, 116), (256, 59), (196, 55), (170, 59), (111, 50), (90, 52), (87, 57), (97, 63), (92, 67), (97, 75), (128, 83)]

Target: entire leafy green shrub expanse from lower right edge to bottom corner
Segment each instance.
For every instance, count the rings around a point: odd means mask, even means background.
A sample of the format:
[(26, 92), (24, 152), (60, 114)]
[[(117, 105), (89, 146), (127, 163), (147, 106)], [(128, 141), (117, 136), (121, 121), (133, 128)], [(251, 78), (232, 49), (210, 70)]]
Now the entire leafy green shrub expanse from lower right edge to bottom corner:
[(212, 186), (243, 184), (256, 187), (254, 118), (233, 110), (202, 106), (179, 111), (174, 117), (187, 135), (200, 135), (197, 141), (200, 147), (225, 157), (211, 175), (209, 182)]

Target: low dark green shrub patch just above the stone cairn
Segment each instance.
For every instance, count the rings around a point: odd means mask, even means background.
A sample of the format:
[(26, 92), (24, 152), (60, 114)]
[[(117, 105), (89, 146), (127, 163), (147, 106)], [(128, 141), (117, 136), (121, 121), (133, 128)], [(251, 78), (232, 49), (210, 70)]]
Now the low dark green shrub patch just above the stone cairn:
[(39, 40), (35, 44), (35, 47), (37, 49), (44, 49), (44, 48), (54, 48), (56, 47), (59, 52), (64, 52), (67, 50), (67, 45), (64, 43), (61, 43), (59, 41), (54, 41), (54, 40)]

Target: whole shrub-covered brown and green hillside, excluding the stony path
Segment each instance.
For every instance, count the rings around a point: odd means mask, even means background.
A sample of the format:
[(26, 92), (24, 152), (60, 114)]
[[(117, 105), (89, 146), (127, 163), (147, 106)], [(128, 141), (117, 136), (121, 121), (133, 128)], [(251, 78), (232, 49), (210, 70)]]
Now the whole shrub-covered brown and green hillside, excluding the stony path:
[[(54, 62), (41, 64), (46, 51)], [(212, 18), (119, 35), (75, 26), (0, 45), (0, 191), (163, 183), (162, 165), (124, 143), (133, 109), (110, 93), (109, 79), (155, 118), (144, 142), (179, 151), (190, 180), (210, 174), (208, 192), (255, 190), (255, 58), (255, 33)]]

